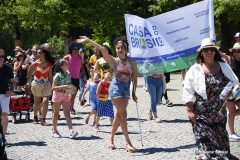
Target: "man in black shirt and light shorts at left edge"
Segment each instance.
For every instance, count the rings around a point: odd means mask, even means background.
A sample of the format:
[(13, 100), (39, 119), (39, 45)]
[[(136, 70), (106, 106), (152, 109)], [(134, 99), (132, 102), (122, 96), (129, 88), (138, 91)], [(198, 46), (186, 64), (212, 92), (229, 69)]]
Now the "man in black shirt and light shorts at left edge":
[(15, 81), (13, 78), (13, 70), (7, 64), (4, 64), (5, 52), (0, 49), (0, 107), (2, 110), (2, 127), (5, 136), (8, 127), (8, 113), (10, 96), (12, 95)]

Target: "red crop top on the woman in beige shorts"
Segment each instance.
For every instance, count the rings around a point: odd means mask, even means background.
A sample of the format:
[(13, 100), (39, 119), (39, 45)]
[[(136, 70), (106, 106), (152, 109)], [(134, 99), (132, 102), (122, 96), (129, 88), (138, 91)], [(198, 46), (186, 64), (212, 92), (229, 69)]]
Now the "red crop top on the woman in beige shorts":
[(34, 67), (35, 67), (35, 76), (34, 79), (48, 79), (49, 76), (49, 71), (51, 69), (51, 64), (47, 63), (45, 67), (42, 67), (40, 65), (41, 63), (35, 62)]

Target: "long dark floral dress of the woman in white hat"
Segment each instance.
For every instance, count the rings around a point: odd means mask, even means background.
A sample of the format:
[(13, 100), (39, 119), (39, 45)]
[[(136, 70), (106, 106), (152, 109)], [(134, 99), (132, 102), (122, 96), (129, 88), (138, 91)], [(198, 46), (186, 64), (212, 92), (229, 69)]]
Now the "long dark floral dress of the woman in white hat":
[(192, 123), (192, 127), (197, 145), (196, 159), (232, 159), (226, 131), (226, 109), (219, 112), (223, 105), (219, 95), (228, 81), (222, 72), (207, 74), (205, 83), (208, 99), (205, 100), (195, 93), (196, 102), (193, 108), (197, 121)]

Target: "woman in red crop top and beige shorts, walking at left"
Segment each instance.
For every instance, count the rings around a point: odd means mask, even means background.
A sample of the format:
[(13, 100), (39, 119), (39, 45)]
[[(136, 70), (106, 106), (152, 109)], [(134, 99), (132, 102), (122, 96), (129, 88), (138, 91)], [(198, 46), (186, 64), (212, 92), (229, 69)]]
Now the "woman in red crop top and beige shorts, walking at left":
[[(38, 123), (37, 113), (40, 104), (42, 104), (41, 125), (46, 126), (47, 123), (45, 122), (45, 119), (48, 110), (48, 100), (52, 95), (52, 65), (54, 62), (51, 54), (46, 49), (40, 48), (37, 53), (39, 59), (34, 61), (28, 70), (28, 85), (31, 86), (32, 94), (34, 96), (33, 123)], [(34, 75), (33, 80), (32, 75)]]

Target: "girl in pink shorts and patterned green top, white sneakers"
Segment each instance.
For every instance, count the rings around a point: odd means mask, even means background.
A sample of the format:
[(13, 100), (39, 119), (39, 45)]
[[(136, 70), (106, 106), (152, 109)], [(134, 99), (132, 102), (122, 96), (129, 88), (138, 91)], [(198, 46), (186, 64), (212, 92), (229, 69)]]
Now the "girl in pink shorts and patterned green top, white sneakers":
[(69, 128), (69, 138), (75, 138), (78, 135), (78, 132), (73, 131), (72, 129), (72, 119), (70, 116), (70, 94), (69, 90), (72, 89), (70, 73), (67, 71), (67, 64), (66, 62), (61, 59), (55, 64), (54, 69), (55, 75), (53, 77), (53, 131), (52, 137), (60, 138), (61, 135), (57, 130), (57, 121), (59, 110), (61, 106), (63, 106), (64, 116), (67, 121), (67, 125)]

